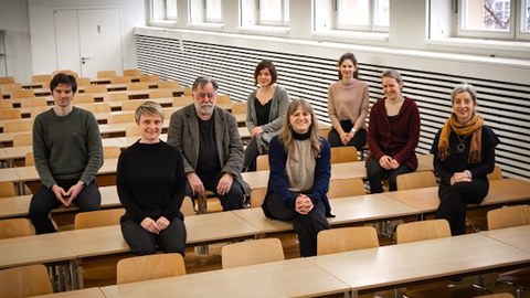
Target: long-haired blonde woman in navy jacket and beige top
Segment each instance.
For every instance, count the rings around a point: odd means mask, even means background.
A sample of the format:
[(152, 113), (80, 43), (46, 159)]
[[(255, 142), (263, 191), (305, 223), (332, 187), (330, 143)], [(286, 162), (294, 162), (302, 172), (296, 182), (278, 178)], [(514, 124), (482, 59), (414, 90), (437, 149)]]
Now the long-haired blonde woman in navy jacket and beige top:
[(300, 256), (317, 254), (317, 234), (329, 228), (327, 192), (331, 177), (330, 146), (319, 137), (311, 106), (295, 99), (268, 150), (271, 175), (262, 205), (269, 219), (293, 221)]

